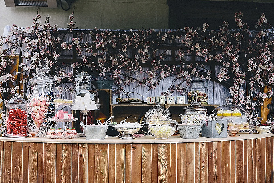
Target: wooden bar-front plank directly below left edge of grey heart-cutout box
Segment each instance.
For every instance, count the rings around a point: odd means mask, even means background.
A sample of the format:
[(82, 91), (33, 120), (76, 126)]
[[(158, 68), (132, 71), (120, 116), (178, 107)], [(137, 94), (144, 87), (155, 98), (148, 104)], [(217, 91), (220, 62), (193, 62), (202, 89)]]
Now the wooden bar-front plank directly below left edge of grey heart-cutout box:
[(208, 182), (208, 143), (200, 142), (200, 182)]

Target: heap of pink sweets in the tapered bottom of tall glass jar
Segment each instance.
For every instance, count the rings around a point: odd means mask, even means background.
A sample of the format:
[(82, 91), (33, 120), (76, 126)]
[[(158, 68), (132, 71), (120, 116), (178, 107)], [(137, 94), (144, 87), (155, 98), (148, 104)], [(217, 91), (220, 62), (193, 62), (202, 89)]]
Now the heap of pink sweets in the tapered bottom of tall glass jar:
[(46, 117), (49, 103), (46, 97), (34, 97), (30, 99), (29, 108), (31, 110), (31, 118), (35, 125), (40, 126)]

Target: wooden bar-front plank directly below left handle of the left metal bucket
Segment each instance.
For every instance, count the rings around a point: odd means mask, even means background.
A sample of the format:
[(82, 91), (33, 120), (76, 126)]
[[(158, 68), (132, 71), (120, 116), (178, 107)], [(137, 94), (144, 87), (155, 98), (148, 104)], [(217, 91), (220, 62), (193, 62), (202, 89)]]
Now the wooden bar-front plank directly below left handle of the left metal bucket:
[(88, 144), (79, 144), (79, 183), (88, 182)]

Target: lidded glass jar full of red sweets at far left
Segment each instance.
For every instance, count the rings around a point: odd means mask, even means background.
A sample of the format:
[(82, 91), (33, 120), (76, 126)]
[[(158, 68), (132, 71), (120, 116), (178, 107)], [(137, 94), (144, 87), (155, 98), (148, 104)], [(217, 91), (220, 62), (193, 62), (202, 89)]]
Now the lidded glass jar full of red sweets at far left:
[(28, 102), (15, 94), (14, 98), (7, 101), (7, 137), (27, 137)]

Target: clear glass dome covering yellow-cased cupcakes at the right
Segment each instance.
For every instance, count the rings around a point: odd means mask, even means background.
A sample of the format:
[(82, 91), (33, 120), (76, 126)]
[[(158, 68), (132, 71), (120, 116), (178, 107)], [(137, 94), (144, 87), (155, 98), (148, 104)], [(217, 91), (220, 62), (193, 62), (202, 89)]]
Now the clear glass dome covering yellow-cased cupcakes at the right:
[(226, 98), (226, 103), (213, 110), (213, 114), (217, 119), (227, 120), (227, 123), (241, 124), (241, 130), (252, 130), (255, 128), (250, 114), (241, 106), (232, 104), (231, 97)]

